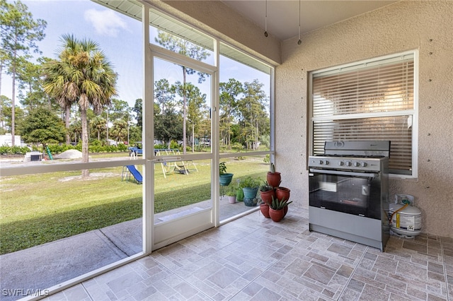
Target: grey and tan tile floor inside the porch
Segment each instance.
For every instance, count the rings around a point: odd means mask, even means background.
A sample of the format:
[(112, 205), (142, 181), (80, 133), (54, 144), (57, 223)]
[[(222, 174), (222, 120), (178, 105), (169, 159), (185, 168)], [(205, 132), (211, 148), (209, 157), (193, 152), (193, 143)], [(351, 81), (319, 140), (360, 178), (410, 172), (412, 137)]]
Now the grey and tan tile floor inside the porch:
[(386, 252), (259, 211), (47, 300), (451, 300), (453, 239), (392, 236)]

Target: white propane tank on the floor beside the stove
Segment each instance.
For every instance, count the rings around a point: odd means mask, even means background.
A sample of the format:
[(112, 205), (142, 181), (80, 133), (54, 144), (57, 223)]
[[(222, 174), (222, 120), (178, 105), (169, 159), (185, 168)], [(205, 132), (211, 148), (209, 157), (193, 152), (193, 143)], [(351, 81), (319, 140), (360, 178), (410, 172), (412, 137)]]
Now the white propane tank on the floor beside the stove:
[(391, 234), (413, 238), (422, 232), (422, 211), (413, 206), (413, 200), (409, 194), (395, 194), (389, 208)]

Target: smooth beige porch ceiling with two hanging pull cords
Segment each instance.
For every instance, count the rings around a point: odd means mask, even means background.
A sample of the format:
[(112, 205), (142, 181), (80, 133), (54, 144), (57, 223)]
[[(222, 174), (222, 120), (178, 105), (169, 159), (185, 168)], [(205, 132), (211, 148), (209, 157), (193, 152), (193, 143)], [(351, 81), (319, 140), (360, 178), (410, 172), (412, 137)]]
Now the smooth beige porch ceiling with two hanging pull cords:
[(267, 32), (279, 40), (299, 35), (299, 4), (301, 35), (317, 28), (337, 23), (353, 16), (373, 11), (396, 1), (384, 0), (222, 0), (265, 32), (266, 4)]

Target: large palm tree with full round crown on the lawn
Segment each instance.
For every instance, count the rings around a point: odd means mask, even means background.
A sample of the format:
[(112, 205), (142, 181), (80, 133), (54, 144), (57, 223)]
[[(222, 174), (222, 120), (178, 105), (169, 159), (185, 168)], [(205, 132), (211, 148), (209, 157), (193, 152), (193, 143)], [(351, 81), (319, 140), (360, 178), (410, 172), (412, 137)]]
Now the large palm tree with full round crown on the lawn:
[[(59, 60), (44, 66), (44, 91), (57, 99), (63, 108), (73, 102), (79, 105), (82, 124), (82, 162), (88, 163), (88, 121), (86, 110), (92, 107), (95, 114), (101, 114), (103, 107), (110, 105), (116, 95), (117, 74), (91, 40), (78, 40), (73, 35), (62, 36), (63, 47)], [(88, 177), (88, 170), (82, 170), (82, 177)]]

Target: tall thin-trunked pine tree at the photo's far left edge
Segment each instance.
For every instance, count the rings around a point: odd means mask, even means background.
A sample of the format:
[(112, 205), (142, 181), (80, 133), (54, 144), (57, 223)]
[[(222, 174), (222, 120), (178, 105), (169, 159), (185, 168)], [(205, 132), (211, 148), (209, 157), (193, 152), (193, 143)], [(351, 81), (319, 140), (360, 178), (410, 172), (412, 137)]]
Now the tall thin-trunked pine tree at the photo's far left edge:
[[(1, 28), (1, 61), (8, 67), (8, 74), (11, 74), (13, 87), (11, 93), (11, 143), (14, 146), (14, 135), (16, 134), (16, 75), (21, 64), (30, 57), (30, 50), (38, 53), (36, 41), (45, 37), (44, 29), (47, 26), (45, 20), (33, 20), (33, 15), (28, 12), (28, 7), (21, 1), (14, 4), (0, 0), (0, 28)], [(0, 77), (1, 77), (0, 70)]]

